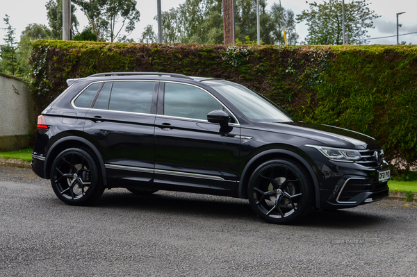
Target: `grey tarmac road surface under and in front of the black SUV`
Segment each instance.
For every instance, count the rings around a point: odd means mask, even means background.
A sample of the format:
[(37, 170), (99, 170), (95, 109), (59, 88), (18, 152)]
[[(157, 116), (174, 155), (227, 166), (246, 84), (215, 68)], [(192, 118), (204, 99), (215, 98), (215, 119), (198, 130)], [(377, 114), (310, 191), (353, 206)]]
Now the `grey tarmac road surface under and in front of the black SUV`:
[(266, 224), (247, 201), (106, 191), (58, 200), (30, 169), (0, 166), (0, 276), (414, 276), (417, 204), (379, 201)]

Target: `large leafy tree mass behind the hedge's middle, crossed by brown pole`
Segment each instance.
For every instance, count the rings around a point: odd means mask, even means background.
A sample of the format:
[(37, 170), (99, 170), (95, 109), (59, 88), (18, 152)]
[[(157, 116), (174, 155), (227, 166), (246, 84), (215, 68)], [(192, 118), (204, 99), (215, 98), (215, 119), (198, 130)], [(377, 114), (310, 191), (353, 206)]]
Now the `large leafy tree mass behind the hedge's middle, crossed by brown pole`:
[[(261, 0), (261, 40), (266, 44), (284, 44), (282, 28), (286, 28), (288, 42), (295, 44), (294, 13), (274, 4), (268, 10)], [(236, 39), (256, 40), (256, 1), (235, 1)], [(178, 8), (163, 12), (165, 42), (220, 44), (223, 41), (222, 0), (186, 0)]]

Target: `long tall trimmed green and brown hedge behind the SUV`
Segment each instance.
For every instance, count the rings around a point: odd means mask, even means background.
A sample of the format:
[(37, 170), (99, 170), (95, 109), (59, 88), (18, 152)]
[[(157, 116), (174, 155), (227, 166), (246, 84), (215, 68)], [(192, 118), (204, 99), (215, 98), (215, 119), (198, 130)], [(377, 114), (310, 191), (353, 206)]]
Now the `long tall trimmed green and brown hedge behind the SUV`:
[(99, 72), (172, 72), (223, 78), (300, 120), (377, 138), (399, 171), (417, 165), (416, 46), (224, 46), (39, 40), (31, 85), (40, 112), (67, 78)]

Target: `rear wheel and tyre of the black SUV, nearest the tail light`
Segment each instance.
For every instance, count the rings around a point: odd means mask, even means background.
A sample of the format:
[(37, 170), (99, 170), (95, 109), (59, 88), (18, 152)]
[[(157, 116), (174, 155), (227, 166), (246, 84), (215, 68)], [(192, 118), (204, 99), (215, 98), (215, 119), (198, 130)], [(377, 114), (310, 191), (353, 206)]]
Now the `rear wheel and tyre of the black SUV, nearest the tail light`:
[(95, 160), (78, 148), (66, 149), (56, 157), (51, 185), (56, 196), (70, 205), (88, 205), (104, 192)]

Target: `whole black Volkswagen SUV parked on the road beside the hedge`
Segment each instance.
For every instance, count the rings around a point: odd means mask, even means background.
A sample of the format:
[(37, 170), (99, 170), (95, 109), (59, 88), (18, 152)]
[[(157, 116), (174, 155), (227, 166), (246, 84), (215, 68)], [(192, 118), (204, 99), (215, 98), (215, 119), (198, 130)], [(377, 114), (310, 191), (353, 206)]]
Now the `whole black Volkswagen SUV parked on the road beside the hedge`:
[(197, 192), (249, 199), (259, 217), (285, 224), (311, 207), (388, 196), (375, 139), (295, 121), (242, 85), (151, 72), (67, 83), (38, 117), (32, 168), (70, 205), (112, 187)]

